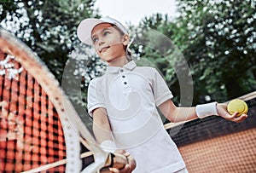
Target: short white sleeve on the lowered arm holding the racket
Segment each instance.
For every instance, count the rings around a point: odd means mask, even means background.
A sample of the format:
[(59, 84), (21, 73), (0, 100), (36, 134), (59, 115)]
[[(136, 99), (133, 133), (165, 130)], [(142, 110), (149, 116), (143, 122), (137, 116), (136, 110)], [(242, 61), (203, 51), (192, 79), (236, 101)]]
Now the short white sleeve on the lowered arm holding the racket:
[(98, 83), (97, 78), (90, 81), (88, 87), (87, 95), (87, 108), (89, 115), (92, 117), (92, 111), (96, 108), (104, 107), (106, 108), (104, 95), (102, 94), (100, 84)]

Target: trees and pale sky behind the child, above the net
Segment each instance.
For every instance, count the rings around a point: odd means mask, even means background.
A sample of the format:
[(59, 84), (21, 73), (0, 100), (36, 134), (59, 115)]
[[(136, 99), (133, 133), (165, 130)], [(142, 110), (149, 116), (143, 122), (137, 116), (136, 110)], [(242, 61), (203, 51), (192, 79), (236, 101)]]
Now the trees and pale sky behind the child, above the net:
[[(69, 91), (78, 107), (86, 107), (89, 81), (100, 76), (106, 65), (92, 48), (80, 43), (77, 26), (85, 18), (107, 15), (123, 22), (131, 36), (143, 42), (150, 39), (149, 29), (172, 40), (189, 64), (193, 105), (228, 101), (256, 89), (255, 0), (157, 2), (1, 0), (0, 21), (38, 54), (60, 82), (67, 63), (73, 66), (73, 75), (82, 78), (82, 96)], [(155, 44), (161, 45), (157, 40)], [(131, 49), (135, 57), (146, 58), (160, 70), (178, 104), (180, 86), (172, 63), (146, 46), (135, 43)], [(178, 64), (172, 48), (165, 49)], [(179, 70), (184, 70), (182, 65)]]

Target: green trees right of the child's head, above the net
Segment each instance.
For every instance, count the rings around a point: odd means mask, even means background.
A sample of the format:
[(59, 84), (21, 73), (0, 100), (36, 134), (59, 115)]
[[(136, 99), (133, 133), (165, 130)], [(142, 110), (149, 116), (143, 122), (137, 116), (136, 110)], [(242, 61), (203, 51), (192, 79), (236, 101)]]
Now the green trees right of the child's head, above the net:
[[(177, 71), (183, 71), (188, 76), (192, 74), (194, 104), (227, 101), (244, 95), (256, 88), (256, 9), (253, 4), (253, 0), (180, 0), (177, 20), (171, 21), (162, 14), (154, 14), (141, 21), (137, 31), (143, 31), (143, 34), (137, 33), (138, 39), (147, 43), (151, 39), (148, 35), (150, 29), (163, 33), (183, 53), (189, 72), (186, 72), (173, 45), (154, 40), (154, 44), (165, 49), (164, 57), (152, 48), (142, 50), (137, 46), (135, 51), (159, 67), (177, 95), (176, 101), (182, 87)], [(174, 65), (176, 69), (173, 69)]]

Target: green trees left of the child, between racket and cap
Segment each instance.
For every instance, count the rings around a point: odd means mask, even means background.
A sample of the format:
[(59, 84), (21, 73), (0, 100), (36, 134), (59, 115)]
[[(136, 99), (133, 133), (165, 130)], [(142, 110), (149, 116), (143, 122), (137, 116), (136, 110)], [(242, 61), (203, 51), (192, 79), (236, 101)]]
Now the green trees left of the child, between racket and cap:
[[(81, 20), (98, 16), (97, 10), (93, 9), (94, 3), (95, 0), (4, 0), (0, 3), (1, 25), (20, 37), (38, 54), (60, 82), (68, 62), (66, 85), (72, 86), (76, 82), (73, 79), (79, 78), (81, 81), (82, 78), (79, 88), (82, 92), (73, 87), (64, 89), (68, 89), (67, 95), (87, 124), (90, 121), (84, 107), (86, 85), (96, 73), (98, 59), (88, 54), (90, 48), (80, 43), (76, 31)], [(71, 52), (77, 48), (86, 55), (85, 59), (71, 56)], [(86, 70), (82, 71), (83, 68)]]

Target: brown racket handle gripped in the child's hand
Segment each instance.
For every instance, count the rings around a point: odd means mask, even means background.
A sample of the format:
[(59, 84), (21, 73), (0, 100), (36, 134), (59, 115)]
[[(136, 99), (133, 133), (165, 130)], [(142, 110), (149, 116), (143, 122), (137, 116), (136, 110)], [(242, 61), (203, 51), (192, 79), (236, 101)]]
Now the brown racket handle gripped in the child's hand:
[(128, 162), (129, 162), (128, 159), (122, 154), (109, 153), (106, 164), (100, 170), (100, 173), (110, 172), (109, 168), (116, 168), (118, 170), (122, 170), (123, 168), (125, 168), (125, 164), (128, 164)]

